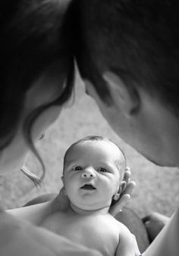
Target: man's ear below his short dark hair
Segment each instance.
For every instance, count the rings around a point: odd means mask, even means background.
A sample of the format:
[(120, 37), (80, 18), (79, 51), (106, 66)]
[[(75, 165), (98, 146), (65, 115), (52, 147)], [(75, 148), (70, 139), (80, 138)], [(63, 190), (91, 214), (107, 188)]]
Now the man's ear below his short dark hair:
[(108, 84), (115, 107), (126, 115), (136, 114), (140, 107), (140, 95), (136, 88), (127, 86), (114, 72), (107, 71), (102, 77)]

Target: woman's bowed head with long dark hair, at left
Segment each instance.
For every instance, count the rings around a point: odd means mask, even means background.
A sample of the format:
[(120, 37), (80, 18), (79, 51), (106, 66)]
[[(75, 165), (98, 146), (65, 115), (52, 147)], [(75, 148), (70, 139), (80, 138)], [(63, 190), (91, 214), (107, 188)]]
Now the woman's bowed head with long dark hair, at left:
[(35, 152), (33, 141), (58, 116), (57, 106), (71, 96), (70, 2), (1, 2), (0, 163), (8, 161), (6, 149), (17, 160), (18, 142), (22, 152), (25, 144)]

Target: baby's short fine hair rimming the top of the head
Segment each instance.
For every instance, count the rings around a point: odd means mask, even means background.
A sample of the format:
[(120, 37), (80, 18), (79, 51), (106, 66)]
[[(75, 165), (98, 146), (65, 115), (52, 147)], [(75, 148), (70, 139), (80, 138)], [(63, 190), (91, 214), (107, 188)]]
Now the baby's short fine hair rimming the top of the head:
[[(115, 144), (115, 142), (113, 142), (111, 139), (108, 139), (108, 138), (105, 138), (103, 136), (96, 136), (96, 135), (93, 135), (93, 136), (86, 136), (84, 137), (83, 139), (79, 139), (77, 140), (77, 142), (74, 142), (69, 148), (68, 150), (65, 152), (64, 154), (64, 164), (66, 162), (66, 158), (67, 158), (67, 155), (68, 155), (68, 152), (70, 152), (70, 150), (76, 146), (77, 144), (80, 144), (80, 143), (83, 143), (83, 142), (98, 142), (98, 141), (106, 141), (106, 142), (111, 142), (113, 144)], [(120, 162), (118, 164), (118, 168), (120, 168), (120, 171), (122, 171), (122, 174), (124, 174), (124, 171), (126, 169), (126, 166), (127, 166), (127, 162), (126, 162), (126, 157), (125, 157), (125, 154), (124, 154), (124, 151), (121, 149), (121, 147), (119, 147), (118, 145), (115, 144), (115, 146), (117, 146), (117, 148), (120, 150), (121, 154), (124, 156), (124, 160), (121, 160), (120, 159)], [(64, 172), (64, 168), (63, 168), (63, 172)]]

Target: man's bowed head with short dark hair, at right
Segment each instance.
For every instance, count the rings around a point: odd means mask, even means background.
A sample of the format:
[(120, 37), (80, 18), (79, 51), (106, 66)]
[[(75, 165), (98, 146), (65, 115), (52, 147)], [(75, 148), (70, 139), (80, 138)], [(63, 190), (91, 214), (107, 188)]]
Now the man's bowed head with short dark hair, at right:
[(76, 5), (76, 55), (86, 90), (131, 146), (159, 165), (177, 165), (177, 1), (80, 0)]

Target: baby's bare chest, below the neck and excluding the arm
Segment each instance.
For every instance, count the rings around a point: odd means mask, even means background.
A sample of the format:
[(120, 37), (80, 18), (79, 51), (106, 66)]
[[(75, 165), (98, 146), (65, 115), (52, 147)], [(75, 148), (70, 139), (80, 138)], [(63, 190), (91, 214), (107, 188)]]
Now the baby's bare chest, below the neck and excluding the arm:
[(105, 216), (56, 216), (44, 225), (47, 229), (63, 235), (73, 242), (115, 256), (119, 242), (117, 221)]

